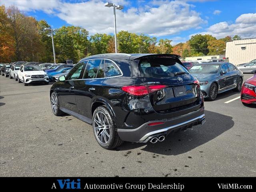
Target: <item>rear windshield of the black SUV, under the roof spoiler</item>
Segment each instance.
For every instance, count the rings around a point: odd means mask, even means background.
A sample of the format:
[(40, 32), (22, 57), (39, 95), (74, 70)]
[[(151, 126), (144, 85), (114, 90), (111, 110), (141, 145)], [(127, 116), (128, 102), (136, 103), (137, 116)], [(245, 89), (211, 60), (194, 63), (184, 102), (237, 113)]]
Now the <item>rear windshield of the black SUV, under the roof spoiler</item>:
[(188, 73), (188, 70), (172, 58), (150, 58), (140, 60), (142, 77), (173, 77), (176, 72)]

